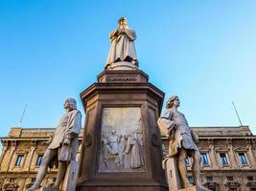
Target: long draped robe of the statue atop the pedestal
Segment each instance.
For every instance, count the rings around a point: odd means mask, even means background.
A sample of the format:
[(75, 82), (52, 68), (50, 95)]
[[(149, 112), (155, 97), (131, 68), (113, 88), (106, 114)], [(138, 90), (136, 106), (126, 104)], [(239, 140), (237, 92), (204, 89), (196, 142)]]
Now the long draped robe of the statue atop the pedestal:
[[(111, 42), (110, 50), (107, 56), (107, 61), (105, 63), (105, 68), (111, 65), (114, 62), (118, 61), (128, 61), (138, 66), (134, 40), (136, 39), (135, 31), (131, 29), (123, 29), (124, 33), (116, 36)], [(113, 32), (110, 32), (110, 36), (113, 35)]]

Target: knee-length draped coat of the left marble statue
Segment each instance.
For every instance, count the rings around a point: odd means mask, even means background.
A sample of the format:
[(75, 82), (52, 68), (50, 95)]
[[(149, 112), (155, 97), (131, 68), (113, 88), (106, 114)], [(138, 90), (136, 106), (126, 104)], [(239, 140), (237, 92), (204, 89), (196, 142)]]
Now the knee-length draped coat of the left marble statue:
[[(81, 112), (73, 110), (64, 114), (58, 122), (54, 138), (47, 149), (58, 149), (58, 160), (60, 161), (75, 159), (80, 131)], [(65, 138), (70, 138), (70, 145), (63, 145)]]

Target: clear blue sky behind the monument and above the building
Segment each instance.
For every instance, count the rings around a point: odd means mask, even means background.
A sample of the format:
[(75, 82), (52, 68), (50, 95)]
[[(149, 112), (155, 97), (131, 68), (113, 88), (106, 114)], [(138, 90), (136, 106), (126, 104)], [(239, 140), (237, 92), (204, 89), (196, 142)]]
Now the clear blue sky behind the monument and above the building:
[(63, 101), (96, 82), (121, 16), (137, 32), (140, 69), (177, 95), (191, 126), (256, 134), (256, 1), (0, 1), (0, 137), (55, 127)]

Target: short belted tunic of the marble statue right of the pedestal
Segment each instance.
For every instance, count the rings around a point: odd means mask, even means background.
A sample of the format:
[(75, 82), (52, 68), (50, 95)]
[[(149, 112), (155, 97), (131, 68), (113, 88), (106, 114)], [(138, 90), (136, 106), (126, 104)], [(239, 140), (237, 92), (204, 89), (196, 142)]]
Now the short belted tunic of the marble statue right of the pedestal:
[[(182, 146), (184, 149), (198, 150), (192, 130), (182, 113), (174, 109), (167, 109), (158, 119), (158, 126), (171, 141), (175, 142), (177, 147)], [(177, 127), (176, 130), (175, 126)], [(172, 153), (170, 154), (172, 156)]]

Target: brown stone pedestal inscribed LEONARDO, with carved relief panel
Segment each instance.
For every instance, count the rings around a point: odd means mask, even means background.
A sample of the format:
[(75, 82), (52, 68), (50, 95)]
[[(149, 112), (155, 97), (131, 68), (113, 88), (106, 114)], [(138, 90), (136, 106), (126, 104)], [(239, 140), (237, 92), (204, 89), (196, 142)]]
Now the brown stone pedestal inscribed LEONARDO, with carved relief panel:
[(105, 71), (81, 93), (86, 120), (77, 190), (168, 190), (156, 123), (163, 98), (139, 70)]

